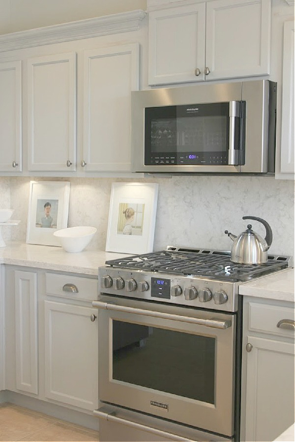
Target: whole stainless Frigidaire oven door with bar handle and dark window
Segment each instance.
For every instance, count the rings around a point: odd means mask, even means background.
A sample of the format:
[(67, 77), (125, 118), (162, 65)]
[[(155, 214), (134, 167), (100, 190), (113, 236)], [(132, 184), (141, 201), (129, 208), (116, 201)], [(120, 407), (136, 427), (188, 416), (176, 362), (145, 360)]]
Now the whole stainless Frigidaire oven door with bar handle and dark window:
[(234, 314), (101, 296), (100, 400), (232, 437)]

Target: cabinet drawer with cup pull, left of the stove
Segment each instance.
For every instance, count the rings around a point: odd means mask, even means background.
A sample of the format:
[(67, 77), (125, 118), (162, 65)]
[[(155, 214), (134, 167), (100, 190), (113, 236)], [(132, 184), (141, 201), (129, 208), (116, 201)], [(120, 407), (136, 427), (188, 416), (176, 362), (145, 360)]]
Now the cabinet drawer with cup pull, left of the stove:
[(93, 301), (97, 299), (97, 279), (46, 273), (46, 295)]

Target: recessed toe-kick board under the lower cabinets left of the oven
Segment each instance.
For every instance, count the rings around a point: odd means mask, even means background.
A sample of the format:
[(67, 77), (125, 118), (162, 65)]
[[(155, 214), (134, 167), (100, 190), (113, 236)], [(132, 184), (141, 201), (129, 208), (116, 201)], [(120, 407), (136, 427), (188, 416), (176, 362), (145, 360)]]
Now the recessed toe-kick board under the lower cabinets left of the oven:
[(35, 399), (31, 396), (15, 393), (9, 390), (0, 391), (0, 403), (10, 402), (11, 404), (19, 405), (20, 407), (29, 408), (35, 412), (44, 413), (56, 419), (61, 419), (66, 422), (71, 422), (91, 430), (99, 431), (99, 419), (88, 414), (89, 412), (77, 412), (60, 405), (51, 404), (44, 400)]

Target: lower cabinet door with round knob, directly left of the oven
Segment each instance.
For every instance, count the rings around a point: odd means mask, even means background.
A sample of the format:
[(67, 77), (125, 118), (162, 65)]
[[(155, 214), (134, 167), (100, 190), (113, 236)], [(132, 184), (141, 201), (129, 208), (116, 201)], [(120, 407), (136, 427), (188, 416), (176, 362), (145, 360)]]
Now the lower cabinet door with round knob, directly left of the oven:
[[(93, 309), (44, 301), (45, 396), (98, 407), (98, 324)], [(94, 321), (93, 321), (94, 320)]]

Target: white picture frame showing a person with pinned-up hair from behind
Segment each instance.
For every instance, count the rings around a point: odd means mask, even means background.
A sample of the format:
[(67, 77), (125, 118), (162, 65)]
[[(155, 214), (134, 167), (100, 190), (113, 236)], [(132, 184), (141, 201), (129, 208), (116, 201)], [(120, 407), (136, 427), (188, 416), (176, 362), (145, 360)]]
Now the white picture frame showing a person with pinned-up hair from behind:
[(157, 183), (112, 183), (106, 251), (138, 255), (153, 251)]

